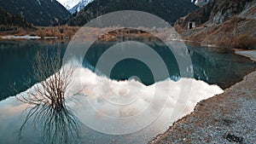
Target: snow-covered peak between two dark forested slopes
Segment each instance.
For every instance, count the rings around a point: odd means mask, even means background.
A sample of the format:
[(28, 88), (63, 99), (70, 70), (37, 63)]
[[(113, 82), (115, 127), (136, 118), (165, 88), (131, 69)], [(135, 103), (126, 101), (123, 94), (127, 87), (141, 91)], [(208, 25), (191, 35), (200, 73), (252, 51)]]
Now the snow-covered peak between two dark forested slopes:
[(57, 0), (61, 3), (71, 14), (79, 12), (80, 9), (92, 2), (93, 0)]

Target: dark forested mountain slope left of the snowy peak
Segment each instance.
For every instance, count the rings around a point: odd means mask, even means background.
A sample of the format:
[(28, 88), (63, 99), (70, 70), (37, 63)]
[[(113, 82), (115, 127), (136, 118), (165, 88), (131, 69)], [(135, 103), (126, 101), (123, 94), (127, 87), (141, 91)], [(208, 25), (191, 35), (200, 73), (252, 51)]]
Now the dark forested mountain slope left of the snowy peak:
[(55, 0), (1, 0), (0, 7), (10, 14), (21, 14), (36, 26), (50, 26), (67, 19), (69, 13)]

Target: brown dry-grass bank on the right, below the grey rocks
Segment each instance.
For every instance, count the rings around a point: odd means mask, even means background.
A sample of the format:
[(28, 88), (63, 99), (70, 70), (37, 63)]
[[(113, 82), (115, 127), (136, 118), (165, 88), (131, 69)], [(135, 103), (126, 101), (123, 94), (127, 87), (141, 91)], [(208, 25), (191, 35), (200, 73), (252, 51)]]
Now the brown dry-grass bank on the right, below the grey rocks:
[(235, 15), (221, 25), (208, 26), (199, 32), (190, 33), (185, 38), (202, 45), (208, 43), (224, 49), (253, 49), (256, 47), (254, 24), (255, 20), (247, 20)]

